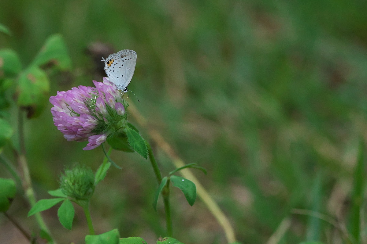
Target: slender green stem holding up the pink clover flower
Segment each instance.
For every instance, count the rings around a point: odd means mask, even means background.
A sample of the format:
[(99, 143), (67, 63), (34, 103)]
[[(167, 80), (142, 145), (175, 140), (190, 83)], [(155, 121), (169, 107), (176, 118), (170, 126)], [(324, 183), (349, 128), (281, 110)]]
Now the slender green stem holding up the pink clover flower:
[[(156, 174), (158, 185), (160, 185), (162, 181), (162, 174), (159, 171), (156, 159), (153, 155), (152, 147), (150, 147), (149, 143), (146, 142), (146, 147), (148, 147), (148, 155), (150, 164), (152, 164), (154, 173)], [(167, 226), (167, 236), (172, 237), (172, 218), (171, 218), (171, 207), (170, 207), (170, 180), (168, 179), (166, 186), (162, 191), (163, 203), (164, 203), (164, 211), (166, 212), (166, 226)]]

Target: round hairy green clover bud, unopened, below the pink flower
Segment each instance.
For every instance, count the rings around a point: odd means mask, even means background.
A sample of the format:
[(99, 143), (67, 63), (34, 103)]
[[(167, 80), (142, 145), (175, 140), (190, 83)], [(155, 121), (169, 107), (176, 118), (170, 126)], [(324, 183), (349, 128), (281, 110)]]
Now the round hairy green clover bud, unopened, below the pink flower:
[(84, 165), (74, 164), (67, 167), (60, 176), (63, 194), (75, 200), (89, 200), (94, 192), (93, 171)]

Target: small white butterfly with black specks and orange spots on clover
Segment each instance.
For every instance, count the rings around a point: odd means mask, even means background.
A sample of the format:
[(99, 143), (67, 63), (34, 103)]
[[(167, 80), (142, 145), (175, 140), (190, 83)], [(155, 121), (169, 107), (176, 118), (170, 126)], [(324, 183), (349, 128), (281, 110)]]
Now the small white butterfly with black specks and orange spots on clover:
[(105, 62), (105, 71), (109, 81), (116, 85), (117, 89), (127, 92), (132, 75), (134, 75), (137, 53), (133, 50), (121, 50), (102, 59)]

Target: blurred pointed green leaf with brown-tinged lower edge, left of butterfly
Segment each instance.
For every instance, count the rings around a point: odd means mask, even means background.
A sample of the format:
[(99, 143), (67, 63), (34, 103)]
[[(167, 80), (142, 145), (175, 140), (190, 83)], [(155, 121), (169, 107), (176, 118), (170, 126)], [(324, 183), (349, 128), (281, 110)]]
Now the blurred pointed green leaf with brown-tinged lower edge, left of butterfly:
[(65, 42), (60, 34), (48, 37), (40, 52), (30, 66), (44, 66), (53, 64), (60, 70), (70, 70), (71, 60)]

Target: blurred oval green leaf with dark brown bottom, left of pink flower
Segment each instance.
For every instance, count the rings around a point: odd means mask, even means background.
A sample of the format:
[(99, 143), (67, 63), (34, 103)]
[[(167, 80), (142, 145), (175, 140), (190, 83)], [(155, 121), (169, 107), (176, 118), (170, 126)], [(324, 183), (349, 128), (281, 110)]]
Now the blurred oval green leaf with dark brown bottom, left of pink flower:
[(46, 73), (37, 67), (30, 67), (19, 76), (18, 106), (28, 110), (28, 118), (37, 117), (48, 102), (49, 91), (50, 82)]

